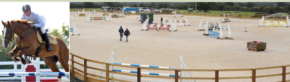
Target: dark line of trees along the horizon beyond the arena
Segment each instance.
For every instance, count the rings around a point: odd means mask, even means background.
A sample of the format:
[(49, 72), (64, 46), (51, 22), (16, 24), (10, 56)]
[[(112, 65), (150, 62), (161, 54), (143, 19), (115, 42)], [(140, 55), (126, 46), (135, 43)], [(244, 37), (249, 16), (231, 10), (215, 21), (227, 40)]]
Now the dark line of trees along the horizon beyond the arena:
[(146, 7), (146, 8), (173, 8), (187, 10), (194, 8), (197, 10), (241, 10), (246, 12), (265, 12), (259, 14), (290, 13), (289, 2), (71, 2), (70, 8), (101, 8), (110, 7)]

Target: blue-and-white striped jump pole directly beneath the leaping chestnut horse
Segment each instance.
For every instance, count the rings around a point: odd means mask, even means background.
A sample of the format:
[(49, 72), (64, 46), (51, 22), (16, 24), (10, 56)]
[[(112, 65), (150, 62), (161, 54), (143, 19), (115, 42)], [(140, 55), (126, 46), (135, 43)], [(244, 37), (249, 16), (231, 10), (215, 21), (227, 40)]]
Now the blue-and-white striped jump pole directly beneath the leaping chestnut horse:
[(0, 76), (69, 76), (69, 72), (0, 72)]

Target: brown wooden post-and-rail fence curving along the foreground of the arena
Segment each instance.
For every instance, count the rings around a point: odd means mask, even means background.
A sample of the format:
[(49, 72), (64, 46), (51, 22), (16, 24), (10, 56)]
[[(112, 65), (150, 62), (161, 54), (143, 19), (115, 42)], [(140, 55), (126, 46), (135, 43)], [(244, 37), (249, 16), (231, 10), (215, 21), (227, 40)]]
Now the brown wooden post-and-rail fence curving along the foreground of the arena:
[[(281, 82), (289, 82), (289, 80), (286, 80), (286, 75), (290, 75), (290, 72), (286, 72), (286, 67), (290, 67), (290, 65), (282, 65), (282, 66), (273, 66), (273, 67), (260, 67), (260, 68), (247, 68), (247, 69), (165, 69), (165, 68), (149, 68), (149, 67), (134, 67), (134, 66), (127, 66), (127, 65), (118, 65), (118, 64), (112, 64), (112, 63), (104, 63), (104, 62), (99, 62), (95, 60), (89, 60), (82, 58), (80, 56), (77, 56), (75, 54), (70, 53), (71, 58), (71, 65), (70, 65), (70, 73), (72, 76), (77, 77), (78, 79), (84, 80), (85, 82), (94, 82), (94, 81), (99, 81), (99, 82), (109, 82), (111, 81), (120, 81), (120, 82), (128, 82), (125, 80), (120, 80), (120, 79), (113, 79), (110, 78), (109, 73), (113, 74), (122, 74), (122, 75), (129, 75), (129, 76), (136, 76), (138, 82), (141, 82), (142, 77), (150, 77), (150, 78), (162, 78), (162, 79), (175, 79), (175, 82), (178, 82), (180, 79), (203, 79), (203, 80), (215, 80), (215, 82), (218, 82), (220, 79), (252, 79), (252, 82), (256, 82), (256, 78), (263, 78), (263, 77), (273, 77), (273, 76), (282, 76), (282, 81)], [(75, 57), (79, 58), (81, 60), (84, 60), (84, 64), (81, 64), (77, 61), (75, 61)], [(87, 62), (92, 62), (92, 63), (99, 63), (106, 65), (106, 70), (100, 69), (100, 68), (95, 68), (95, 67), (90, 67), (87, 65)], [(78, 64), (84, 68), (84, 70), (80, 70), (80, 68), (74, 67), (74, 64)], [(124, 72), (115, 72), (111, 71), (109, 69), (109, 66), (117, 66), (117, 67), (127, 67), (127, 68), (134, 68), (137, 69), (137, 74), (131, 74), (131, 73), (124, 73)], [(256, 76), (256, 70), (264, 70), (264, 69), (274, 69), (274, 68), (282, 68), (281, 73), (277, 74), (269, 74), (269, 75), (260, 75)], [(98, 71), (103, 71), (106, 72), (106, 77), (92, 74), (92, 73), (87, 73), (87, 69), (93, 69), (93, 70), (98, 70)], [(170, 77), (170, 76), (153, 76), (153, 75), (141, 75), (141, 69), (148, 69), (148, 70), (165, 70), (165, 71), (172, 71), (175, 72), (175, 77)], [(77, 72), (78, 71), (78, 72)], [(190, 72), (215, 72), (215, 77), (178, 77), (178, 72), (181, 71), (190, 71)], [(219, 77), (219, 72), (228, 72), (228, 71), (252, 71), (252, 75), (245, 75), (245, 76), (239, 76), (239, 77)], [(81, 74), (83, 73), (83, 74)], [(88, 77), (90, 76), (90, 77)], [(95, 77), (95, 78), (92, 78)], [(99, 78), (99, 79), (96, 79)], [(100, 79), (106, 79), (106, 81), (100, 80)]]

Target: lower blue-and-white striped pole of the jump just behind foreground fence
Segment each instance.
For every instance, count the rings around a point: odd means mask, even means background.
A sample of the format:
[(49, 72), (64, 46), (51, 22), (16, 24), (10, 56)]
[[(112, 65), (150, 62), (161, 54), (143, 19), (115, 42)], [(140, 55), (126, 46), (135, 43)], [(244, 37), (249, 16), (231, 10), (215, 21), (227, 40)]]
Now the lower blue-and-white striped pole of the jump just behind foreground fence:
[[(136, 71), (128, 71), (128, 70), (118, 70), (118, 69), (113, 69), (112, 71), (116, 71), (116, 72), (127, 72), (127, 73), (136, 73)], [(141, 72), (141, 74), (149, 74), (149, 75), (157, 75), (157, 76), (172, 76), (175, 77), (175, 75), (171, 75), (171, 74), (157, 74), (157, 73), (149, 73), (149, 72)], [(180, 77), (180, 75), (178, 75), (178, 77)]]

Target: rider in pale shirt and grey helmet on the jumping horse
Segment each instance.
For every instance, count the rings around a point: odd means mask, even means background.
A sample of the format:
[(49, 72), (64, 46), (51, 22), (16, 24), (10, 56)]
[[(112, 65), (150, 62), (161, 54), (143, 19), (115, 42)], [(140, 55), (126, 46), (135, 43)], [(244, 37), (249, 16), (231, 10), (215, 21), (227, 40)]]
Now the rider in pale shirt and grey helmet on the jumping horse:
[(28, 20), (32, 23), (29, 23), (30, 27), (36, 26), (36, 28), (40, 28), (43, 38), (46, 42), (47, 52), (52, 51), (52, 48), (49, 43), (48, 35), (45, 31), (45, 18), (41, 15), (38, 15), (34, 12), (31, 12), (31, 8), (29, 5), (22, 6), (23, 15), (21, 17), (22, 20)]

